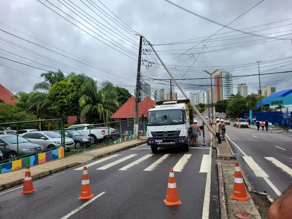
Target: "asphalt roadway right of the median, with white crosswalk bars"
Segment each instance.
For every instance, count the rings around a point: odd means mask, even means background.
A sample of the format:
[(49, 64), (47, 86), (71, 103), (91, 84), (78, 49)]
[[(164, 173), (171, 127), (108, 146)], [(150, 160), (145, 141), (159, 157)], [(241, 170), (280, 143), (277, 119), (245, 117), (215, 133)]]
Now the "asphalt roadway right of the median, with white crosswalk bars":
[(226, 126), (231, 148), (250, 183), (275, 199), (292, 184), (292, 135), (271, 131)]

